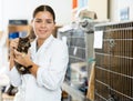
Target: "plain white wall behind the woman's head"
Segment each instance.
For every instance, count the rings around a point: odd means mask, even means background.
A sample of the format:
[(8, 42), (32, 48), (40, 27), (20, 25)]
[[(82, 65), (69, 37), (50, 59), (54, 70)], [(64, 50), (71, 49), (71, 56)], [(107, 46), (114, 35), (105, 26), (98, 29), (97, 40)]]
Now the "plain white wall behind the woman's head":
[[(0, 26), (3, 30), (8, 26), (9, 19), (32, 19), (32, 11), (39, 4), (50, 4), (57, 14), (57, 24), (66, 24), (71, 21), (71, 0), (0, 0)], [(2, 10), (2, 11), (1, 11)], [(1, 14), (2, 13), (2, 14)]]

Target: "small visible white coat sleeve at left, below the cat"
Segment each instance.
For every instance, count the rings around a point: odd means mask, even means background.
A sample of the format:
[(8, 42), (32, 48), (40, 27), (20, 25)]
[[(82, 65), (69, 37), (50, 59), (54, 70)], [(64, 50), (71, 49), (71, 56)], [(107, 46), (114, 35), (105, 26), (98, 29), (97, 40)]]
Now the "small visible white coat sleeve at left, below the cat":
[(9, 71), (9, 79), (11, 81), (11, 84), (14, 85), (14, 87), (19, 87), (21, 84), (21, 75), (19, 74), (19, 72), (16, 69), (16, 67), (13, 67)]

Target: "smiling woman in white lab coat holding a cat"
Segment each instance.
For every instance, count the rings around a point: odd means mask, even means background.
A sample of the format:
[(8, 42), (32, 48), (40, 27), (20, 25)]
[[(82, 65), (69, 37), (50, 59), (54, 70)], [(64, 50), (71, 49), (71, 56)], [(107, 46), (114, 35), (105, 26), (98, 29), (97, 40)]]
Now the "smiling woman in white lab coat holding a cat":
[[(68, 65), (68, 47), (53, 38), (54, 11), (49, 6), (40, 6), (33, 12), (31, 22), (37, 36), (28, 54), (16, 50), (19, 39), (11, 41), (10, 80), (19, 88), (14, 101), (61, 101), (61, 84)], [(30, 67), (30, 74), (20, 74), (14, 61)]]

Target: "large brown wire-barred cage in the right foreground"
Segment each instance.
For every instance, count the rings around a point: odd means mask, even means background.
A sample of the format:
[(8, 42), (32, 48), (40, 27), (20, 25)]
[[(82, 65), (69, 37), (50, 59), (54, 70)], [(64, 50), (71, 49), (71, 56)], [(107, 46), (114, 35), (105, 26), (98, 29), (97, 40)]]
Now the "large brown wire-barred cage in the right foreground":
[(96, 24), (103, 32), (95, 48), (95, 101), (133, 101), (133, 22)]

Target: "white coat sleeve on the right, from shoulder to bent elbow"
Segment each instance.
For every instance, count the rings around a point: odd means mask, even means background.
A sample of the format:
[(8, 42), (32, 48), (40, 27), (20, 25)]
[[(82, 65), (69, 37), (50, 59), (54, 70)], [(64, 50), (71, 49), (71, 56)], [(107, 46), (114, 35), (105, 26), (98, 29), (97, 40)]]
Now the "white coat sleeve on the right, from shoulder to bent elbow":
[(38, 84), (49, 90), (61, 88), (69, 61), (66, 46), (59, 44), (54, 49), (55, 51), (53, 50), (49, 68), (43, 65), (42, 68), (39, 68), (37, 73)]

